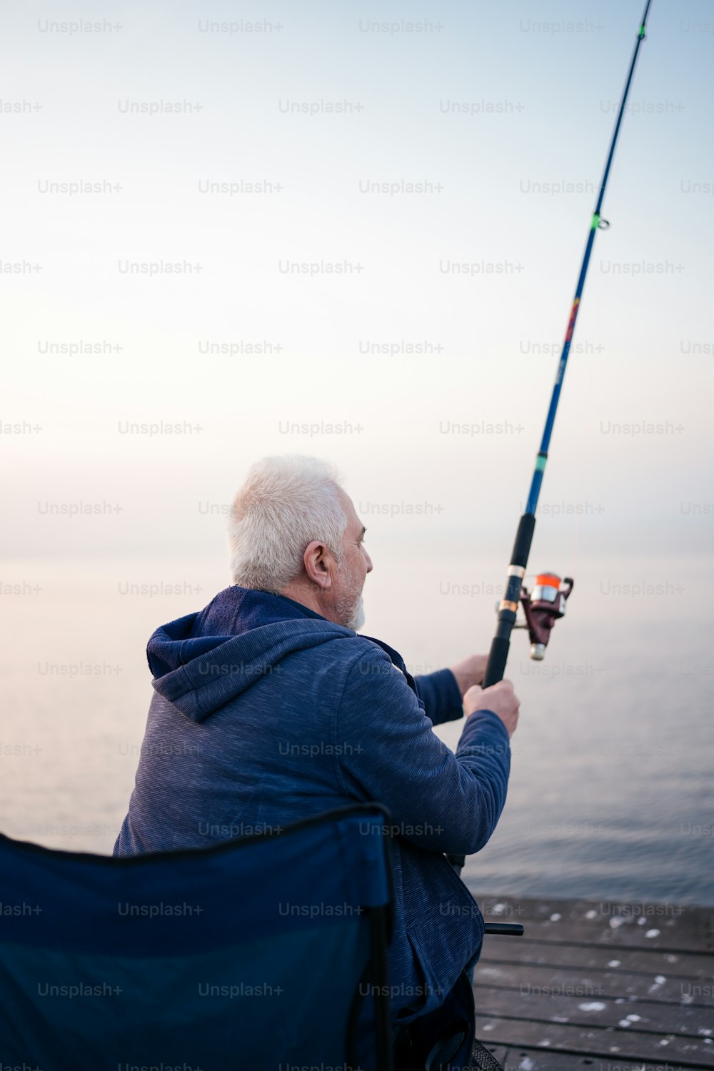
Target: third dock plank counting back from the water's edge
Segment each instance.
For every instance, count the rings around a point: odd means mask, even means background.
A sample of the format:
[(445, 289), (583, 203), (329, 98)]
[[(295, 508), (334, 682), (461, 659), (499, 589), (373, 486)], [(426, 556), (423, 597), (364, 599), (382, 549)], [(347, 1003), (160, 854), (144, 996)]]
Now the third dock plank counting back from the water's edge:
[[(714, 964), (712, 965), (714, 969)], [(621, 970), (591, 970), (588, 967), (553, 967), (525, 963), (480, 961), (474, 981), (485, 989), (508, 987), (523, 995), (571, 996), (598, 1000), (603, 997), (653, 1001), (662, 1005), (714, 1008), (714, 985), (666, 975), (631, 975)], [(483, 997), (482, 997), (483, 999)], [(707, 1012), (710, 1019), (714, 1013)]]

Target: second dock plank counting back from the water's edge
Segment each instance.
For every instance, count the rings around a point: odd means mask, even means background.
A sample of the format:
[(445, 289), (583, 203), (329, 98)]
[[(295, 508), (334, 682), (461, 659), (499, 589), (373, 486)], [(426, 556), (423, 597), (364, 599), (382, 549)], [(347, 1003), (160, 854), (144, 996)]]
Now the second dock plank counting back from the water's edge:
[[(712, 981), (714, 960), (692, 952), (665, 952), (655, 948), (611, 949), (596, 945), (553, 945), (529, 937), (487, 937), (480, 963), (533, 963), (550, 966), (582, 966), (619, 969), (623, 974), (666, 975)], [(617, 964), (617, 966), (614, 966)], [(709, 992), (711, 994), (712, 986)], [(696, 995), (696, 994), (695, 994)]]

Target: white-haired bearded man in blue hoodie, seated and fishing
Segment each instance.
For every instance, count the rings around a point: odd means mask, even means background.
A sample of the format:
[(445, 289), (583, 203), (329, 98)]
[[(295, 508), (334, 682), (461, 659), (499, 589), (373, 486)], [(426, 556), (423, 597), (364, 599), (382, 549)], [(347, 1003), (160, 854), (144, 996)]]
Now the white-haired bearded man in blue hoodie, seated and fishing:
[[(439, 1007), (478, 955), (483, 920), (444, 853), (478, 851), (493, 832), (519, 703), (506, 681), (477, 687), (483, 657), (414, 680), (396, 651), (356, 634), (364, 533), (325, 463), (253, 466), (230, 516), (233, 586), (149, 640), (155, 694), (115, 855), (385, 804), (398, 832), (396, 1030)], [(464, 713), (454, 754), (431, 727)]]

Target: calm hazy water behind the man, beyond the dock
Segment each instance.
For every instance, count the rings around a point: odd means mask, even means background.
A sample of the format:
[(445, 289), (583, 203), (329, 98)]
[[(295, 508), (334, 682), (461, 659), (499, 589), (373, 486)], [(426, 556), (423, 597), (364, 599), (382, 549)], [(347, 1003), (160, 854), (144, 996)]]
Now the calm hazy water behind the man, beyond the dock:
[[(364, 631), (415, 673), (486, 650), (503, 565), (455, 544), (445, 558), (426, 544), (380, 547)], [(0, 583), (0, 829), (110, 853), (151, 697), (146, 642), (226, 586), (223, 562), (13, 559)], [(530, 662), (515, 634), (510, 797), (467, 864), (474, 889), (714, 903), (712, 590), (703, 558), (675, 576), (671, 559), (580, 562), (547, 661)], [(458, 734), (440, 730), (451, 746)]]

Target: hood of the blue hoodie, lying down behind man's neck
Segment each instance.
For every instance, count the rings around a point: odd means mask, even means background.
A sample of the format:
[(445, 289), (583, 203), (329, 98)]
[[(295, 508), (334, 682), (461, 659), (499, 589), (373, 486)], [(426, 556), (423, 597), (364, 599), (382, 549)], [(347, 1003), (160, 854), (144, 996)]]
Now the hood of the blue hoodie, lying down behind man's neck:
[(200, 613), (156, 629), (147, 658), (155, 691), (202, 722), (273, 673), (286, 654), (355, 636), (285, 595), (233, 586)]

